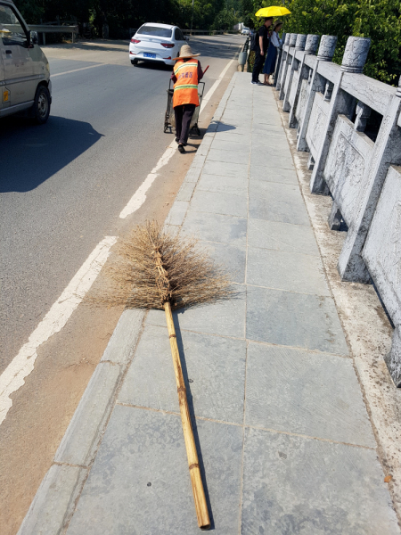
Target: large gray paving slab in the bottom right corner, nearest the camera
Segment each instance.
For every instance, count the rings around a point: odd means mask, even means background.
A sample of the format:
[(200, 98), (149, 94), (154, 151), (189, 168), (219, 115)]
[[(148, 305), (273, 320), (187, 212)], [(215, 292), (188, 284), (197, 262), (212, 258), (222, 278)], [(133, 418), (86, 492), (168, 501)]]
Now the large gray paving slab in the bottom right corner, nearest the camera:
[(372, 449), (250, 429), (241, 535), (398, 534)]

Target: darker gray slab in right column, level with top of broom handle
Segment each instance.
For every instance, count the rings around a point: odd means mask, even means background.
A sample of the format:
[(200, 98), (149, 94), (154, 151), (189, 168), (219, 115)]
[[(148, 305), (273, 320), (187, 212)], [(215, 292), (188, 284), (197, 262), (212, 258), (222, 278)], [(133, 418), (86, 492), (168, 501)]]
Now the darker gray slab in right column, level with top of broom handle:
[(348, 354), (334, 301), (321, 295), (248, 286), (247, 338)]

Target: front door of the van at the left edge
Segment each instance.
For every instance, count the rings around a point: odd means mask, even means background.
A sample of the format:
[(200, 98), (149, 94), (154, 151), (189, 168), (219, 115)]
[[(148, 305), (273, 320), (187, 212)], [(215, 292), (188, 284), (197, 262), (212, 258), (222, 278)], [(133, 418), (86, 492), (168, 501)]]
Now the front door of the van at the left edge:
[(37, 90), (37, 75), (30, 53), (32, 49), (29, 49), (29, 33), (10, 4), (0, 3), (0, 38), (10, 105), (33, 101)]

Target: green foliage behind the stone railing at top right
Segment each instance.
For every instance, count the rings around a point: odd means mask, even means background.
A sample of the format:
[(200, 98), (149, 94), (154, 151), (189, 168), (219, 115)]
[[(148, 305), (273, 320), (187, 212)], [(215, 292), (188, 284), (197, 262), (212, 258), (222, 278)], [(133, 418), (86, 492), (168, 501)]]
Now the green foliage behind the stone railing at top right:
[[(277, 4), (277, 0), (253, 0), (254, 13)], [(364, 74), (397, 83), (401, 74), (400, 0), (291, 0), (285, 5), (291, 15), (283, 17), (284, 31), (339, 37), (334, 62), (341, 62), (349, 36), (371, 37)]]

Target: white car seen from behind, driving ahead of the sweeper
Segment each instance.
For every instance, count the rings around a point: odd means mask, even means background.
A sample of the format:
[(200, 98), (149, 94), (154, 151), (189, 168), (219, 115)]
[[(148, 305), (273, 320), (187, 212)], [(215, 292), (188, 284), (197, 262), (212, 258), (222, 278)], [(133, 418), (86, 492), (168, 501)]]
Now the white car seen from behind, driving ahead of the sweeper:
[(133, 65), (138, 62), (163, 62), (174, 65), (188, 37), (184, 37), (181, 29), (170, 24), (146, 22), (131, 38), (129, 59)]

